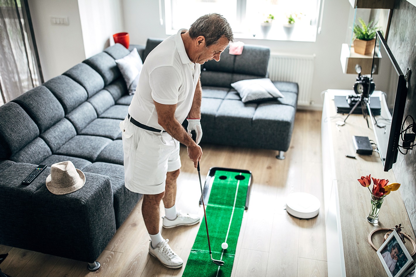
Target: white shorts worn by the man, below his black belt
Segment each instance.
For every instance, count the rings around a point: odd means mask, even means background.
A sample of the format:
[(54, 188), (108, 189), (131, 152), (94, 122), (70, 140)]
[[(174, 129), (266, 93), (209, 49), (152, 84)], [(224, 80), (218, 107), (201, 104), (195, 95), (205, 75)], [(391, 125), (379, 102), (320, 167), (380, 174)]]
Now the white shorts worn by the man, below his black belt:
[(168, 133), (141, 129), (126, 117), (120, 122), (124, 150), (124, 185), (141, 194), (165, 190), (166, 172), (181, 168), (179, 142)]

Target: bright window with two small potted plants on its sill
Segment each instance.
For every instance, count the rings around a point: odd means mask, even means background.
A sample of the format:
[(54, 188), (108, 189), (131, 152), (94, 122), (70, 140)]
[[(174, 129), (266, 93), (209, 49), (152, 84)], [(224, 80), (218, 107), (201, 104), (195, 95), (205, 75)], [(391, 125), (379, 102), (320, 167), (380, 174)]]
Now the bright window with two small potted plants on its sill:
[[(165, 0), (166, 33), (174, 34), (201, 15), (223, 15), (238, 38), (315, 41), (321, 0)], [(267, 37), (260, 27), (273, 15)], [(287, 35), (283, 27), (292, 15), (295, 27)]]

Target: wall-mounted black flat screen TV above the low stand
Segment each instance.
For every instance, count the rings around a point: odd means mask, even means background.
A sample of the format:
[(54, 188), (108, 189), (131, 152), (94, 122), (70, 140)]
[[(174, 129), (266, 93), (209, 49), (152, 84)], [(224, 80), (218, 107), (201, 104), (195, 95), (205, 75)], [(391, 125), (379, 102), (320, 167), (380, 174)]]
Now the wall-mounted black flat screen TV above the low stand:
[[(374, 62), (375, 59), (379, 60)], [(383, 92), (386, 101), (382, 107), (381, 116), (372, 116), (371, 112), (369, 114), (384, 171), (389, 171), (393, 167), (393, 163), (396, 162), (399, 153), (399, 138), (406, 105), (407, 87), (404, 74), (381, 32), (377, 32), (373, 54), (372, 68), (373, 72), (376, 72), (374, 64), (376, 67), (378, 64), (377, 74), (372, 73), (371, 77), (376, 84), (376, 90)], [(383, 125), (385, 126), (383, 127)]]

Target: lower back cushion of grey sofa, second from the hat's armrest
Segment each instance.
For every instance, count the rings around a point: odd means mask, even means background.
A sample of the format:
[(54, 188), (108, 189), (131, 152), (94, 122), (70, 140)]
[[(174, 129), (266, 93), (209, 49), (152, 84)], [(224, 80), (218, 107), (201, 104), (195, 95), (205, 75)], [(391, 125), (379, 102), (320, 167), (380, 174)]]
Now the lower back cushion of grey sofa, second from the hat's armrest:
[(63, 118), (50, 129), (40, 134), (40, 137), (54, 153), (76, 135), (77, 131), (75, 131), (74, 125), (68, 119)]

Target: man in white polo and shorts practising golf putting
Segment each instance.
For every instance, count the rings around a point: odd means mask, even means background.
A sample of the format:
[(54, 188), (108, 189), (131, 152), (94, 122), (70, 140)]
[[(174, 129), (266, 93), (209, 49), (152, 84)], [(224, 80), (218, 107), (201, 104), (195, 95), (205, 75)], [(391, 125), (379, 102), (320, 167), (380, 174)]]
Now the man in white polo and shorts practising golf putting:
[[(179, 142), (188, 149), (195, 167), (201, 160), (202, 137), (199, 80), (201, 64), (220, 60), (233, 41), (227, 20), (218, 14), (204, 15), (190, 27), (161, 42), (146, 57), (129, 115), (123, 130), (125, 185), (142, 193), (142, 215), (151, 242), (149, 253), (169, 268), (182, 267), (183, 260), (171, 250), (159, 231), (159, 205), (163, 200), (163, 227), (194, 225), (201, 218), (176, 210), (176, 179), (181, 160)], [(188, 119), (188, 133), (181, 123)], [(196, 143), (191, 130), (196, 131)]]

